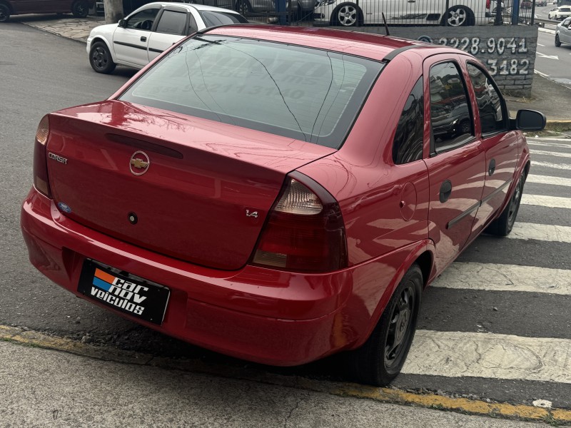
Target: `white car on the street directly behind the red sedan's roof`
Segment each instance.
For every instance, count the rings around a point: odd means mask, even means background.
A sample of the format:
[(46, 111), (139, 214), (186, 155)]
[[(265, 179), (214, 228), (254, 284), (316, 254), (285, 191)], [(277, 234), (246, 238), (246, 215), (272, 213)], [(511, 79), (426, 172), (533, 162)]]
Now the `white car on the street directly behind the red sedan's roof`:
[(161, 52), (198, 30), (247, 22), (238, 12), (213, 6), (149, 3), (118, 24), (91, 30), (87, 39), (89, 63), (98, 73), (111, 73), (117, 64), (143, 68)]

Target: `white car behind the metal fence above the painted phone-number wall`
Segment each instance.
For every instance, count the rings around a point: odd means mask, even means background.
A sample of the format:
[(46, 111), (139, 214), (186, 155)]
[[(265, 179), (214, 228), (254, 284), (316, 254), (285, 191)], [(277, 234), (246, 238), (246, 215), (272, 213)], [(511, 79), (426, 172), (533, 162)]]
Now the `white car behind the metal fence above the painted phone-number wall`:
[[(385, 7), (380, 7), (382, 4)], [(482, 25), (493, 21), (495, 1), (445, 0), (323, 0), (315, 7), (316, 25), (354, 26), (357, 24), (432, 24), (448, 26)]]

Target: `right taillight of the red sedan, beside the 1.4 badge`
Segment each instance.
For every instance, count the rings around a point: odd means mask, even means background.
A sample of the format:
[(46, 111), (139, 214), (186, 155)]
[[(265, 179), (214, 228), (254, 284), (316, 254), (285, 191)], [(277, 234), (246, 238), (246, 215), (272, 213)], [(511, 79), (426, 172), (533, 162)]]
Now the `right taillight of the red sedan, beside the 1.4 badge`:
[(335, 198), (306, 175), (290, 173), (251, 262), (296, 272), (346, 267), (345, 224)]

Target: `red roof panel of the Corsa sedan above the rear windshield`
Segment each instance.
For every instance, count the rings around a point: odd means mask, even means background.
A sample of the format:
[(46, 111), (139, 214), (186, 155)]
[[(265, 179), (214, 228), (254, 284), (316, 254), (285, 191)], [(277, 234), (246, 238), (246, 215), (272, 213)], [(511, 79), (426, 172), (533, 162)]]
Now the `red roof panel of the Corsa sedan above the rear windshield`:
[(380, 34), (367, 34), (360, 31), (343, 31), (335, 29), (322, 29), (316, 27), (289, 27), (270, 26), (266, 24), (238, 24), (218, 26), (199, 31), (202, 34), (217, 34), (221, 36), (246, 37), (248, 39), (261, 39), (277, 41), (285, 44), (308, 46), (317, 49), (336, 51), (342, 54), (363, 56), (377, 61), (389, 60), (401, 51), (414, 49), (415, 51), (428, 51), (425, 55), (438, 51), (448, 51), (459, 54), (457, 49), (445, 48), (427, 44), (418, 40), (400, 39)]

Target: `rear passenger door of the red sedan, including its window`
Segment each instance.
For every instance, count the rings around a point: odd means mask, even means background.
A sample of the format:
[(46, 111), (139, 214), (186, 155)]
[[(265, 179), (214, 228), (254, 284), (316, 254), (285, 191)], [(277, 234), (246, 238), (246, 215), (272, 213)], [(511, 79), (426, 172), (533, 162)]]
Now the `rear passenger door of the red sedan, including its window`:
[(460, 57), (425, 61), (425, 111), (430, 112), (429, 237), (442, 270), (468, 242), (484, 187), (485, 150), (476, 138), (473, 108)]

